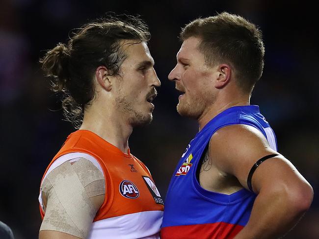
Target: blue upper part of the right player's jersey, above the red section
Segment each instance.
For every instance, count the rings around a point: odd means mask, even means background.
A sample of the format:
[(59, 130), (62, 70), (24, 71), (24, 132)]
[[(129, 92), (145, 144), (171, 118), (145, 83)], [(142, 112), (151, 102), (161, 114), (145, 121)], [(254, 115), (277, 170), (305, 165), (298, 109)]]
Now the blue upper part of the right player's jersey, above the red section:
[(251, 125), (266, 139), (265, 129), (270, 128), (257, 105), (231, 107), (208, 122), (188, 144), (174, 171), (166, 194), (162, 227), (216, 222), (246, 225), (256, 197), (254, 193), (245, 189), (231, 195), (207, 191), (196, 178), (196, 168), (201, 167), (198, 162), (213, 133), (233, 124)]

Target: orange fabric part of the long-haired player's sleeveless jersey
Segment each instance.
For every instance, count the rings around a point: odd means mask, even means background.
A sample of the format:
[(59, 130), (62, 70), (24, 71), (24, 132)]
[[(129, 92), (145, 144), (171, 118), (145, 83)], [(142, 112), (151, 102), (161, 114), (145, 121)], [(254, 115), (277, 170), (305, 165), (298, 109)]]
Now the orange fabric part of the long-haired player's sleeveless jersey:
[[(137, 212), (163, 211), (163, 205), (155, 202), (142, 177), (147, 176), (154, 182), (144, 164), (135, 158), (130, 151), (128, 154), (123, 153), (91, 131), (78, 130), (70, 134), (47, 167), (46, 172), (57, 158), (73, 152), (82, 152), (93, 156), (100, 163), (105, 175), (106, 197), (94, 221)], [(131, 165), (133, 165), (134, 170), (132, 170)], [(129, 180), (136, 186), (139, 191), (137, 198), (127, 198), (121, 194), (119, 187), (123, 180)], [(41, 206), (40, 213), (43, 219), (44, 212)]]

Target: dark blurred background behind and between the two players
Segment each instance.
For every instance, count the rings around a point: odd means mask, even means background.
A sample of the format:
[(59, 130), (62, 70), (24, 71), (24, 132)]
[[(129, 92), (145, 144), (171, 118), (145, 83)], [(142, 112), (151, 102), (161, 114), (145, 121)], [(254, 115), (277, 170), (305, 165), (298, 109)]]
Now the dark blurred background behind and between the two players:
[[(176, 112), (174, 83), (182, 26), (228, 11), (260, 26), (265, 69), (251, 103), (272, 125), (279, 152), (315, 190), (309, 212), (288, 239), (319, 238), (319, 37), (318, 8), (310, 1), (273, 0), (0, 0), (0, 220), (16, 239), (36, 239), (40, 227), (39, 184), (65, 138), (74, 131), (62, 117), (59, 98), (49, 91), (38, 59), (72, 28), (106, 12), (140, 14), (152, 33), (149, 48), (162, 86), (154, 121), (135, 129), (131, 152), (151, 170), (164, 197), (176, 163), (197, 124)], [(275, 218), (274, 218), (275, 219)], [(278, 222), (280, 223), (280, 222)]]

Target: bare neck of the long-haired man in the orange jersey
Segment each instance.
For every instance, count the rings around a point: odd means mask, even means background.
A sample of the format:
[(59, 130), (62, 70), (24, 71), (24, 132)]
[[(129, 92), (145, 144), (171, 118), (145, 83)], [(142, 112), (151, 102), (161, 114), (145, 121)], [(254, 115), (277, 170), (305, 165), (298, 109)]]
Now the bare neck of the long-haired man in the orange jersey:
[(103, 114), (102, 110), (90, 107), (84, 113), (83, 123), (80, 129), (92, 131), (93, 133), (119, 148), (123, 153), (128, 153), (129, 138), (133, 127), (125, 122), (124, 117), (119, 117), (116, 112), (109, 110)]

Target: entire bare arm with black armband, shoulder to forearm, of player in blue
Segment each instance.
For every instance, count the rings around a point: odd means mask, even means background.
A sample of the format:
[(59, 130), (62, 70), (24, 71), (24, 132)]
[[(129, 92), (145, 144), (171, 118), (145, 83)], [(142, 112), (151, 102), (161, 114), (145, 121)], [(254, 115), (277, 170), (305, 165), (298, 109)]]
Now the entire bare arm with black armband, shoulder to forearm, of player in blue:
[[(247, 176), (260, 158), (276, 154), (257, 129), (232, 125), (218, 130), (210, 142), (213, 161), (247, 187)], [(286, 234), (308, 210), (313, 198), (310, 184), (282, 155), (267, 159), (252, 177), (257, 193), (247, 225), (235, 239), (274, 239)]]

